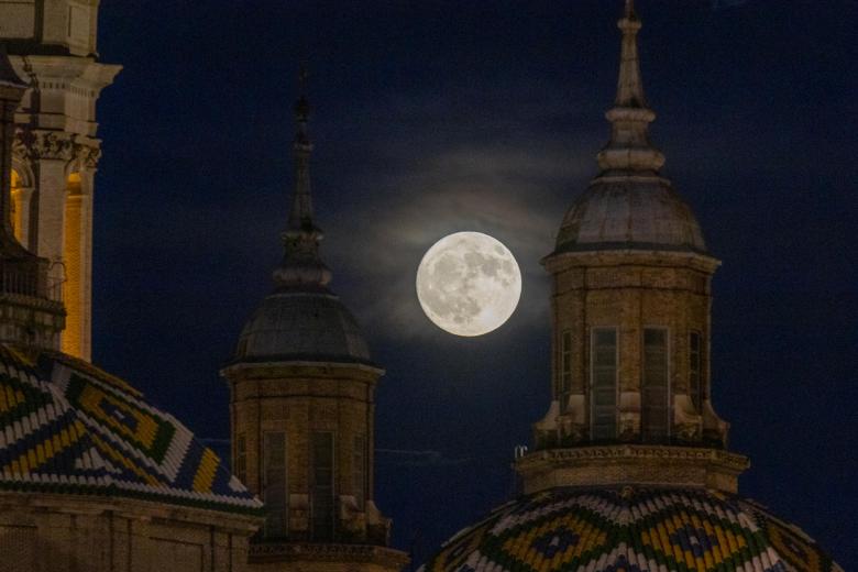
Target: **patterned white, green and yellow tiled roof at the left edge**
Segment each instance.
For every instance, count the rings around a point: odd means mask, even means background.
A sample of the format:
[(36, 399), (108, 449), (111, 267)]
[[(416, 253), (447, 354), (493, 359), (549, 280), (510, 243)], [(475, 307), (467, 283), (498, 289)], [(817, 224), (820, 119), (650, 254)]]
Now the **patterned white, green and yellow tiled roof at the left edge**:
[(209, 448), (124, 381), (0, 344), (0, 488), (113, 494), (218, 510), (262, 504)]

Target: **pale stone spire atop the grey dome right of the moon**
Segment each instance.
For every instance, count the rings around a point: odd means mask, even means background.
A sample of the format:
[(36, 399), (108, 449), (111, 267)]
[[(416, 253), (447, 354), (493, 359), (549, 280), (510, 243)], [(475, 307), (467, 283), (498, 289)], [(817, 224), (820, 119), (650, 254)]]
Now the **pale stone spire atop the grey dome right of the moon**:
[(654, 174), (664, 164), (664, 155), (650, 144), (647, 136), (656, 113), (647, 107), (644, 95), (638, 55), (641, 23), (635, 12), (634, 0), (626, 0), (626, 9), (617, 26), (623, 32), (617, 97), (614, 108), (605, 113), (612, 123), (612, 134), (610, 141), (598, 154), (598, 166), (603, 176)]

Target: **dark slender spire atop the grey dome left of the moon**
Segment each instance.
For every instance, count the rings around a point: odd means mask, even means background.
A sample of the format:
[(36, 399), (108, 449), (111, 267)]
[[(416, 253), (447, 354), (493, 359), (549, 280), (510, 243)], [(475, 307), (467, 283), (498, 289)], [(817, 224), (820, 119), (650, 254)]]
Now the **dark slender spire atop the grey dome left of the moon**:
[(298, 74), (299, 97), (295, 102), (295, 187), (289, 220), (282, 238), (285, 246), (283, 262), (274, 271), (277, 289), (326, 289), (331, 271), (319, 257), (319, 242), (324, 234), (312, 220), (310, 194), (310, 154), (312, 142), (308, 132), (310, 103), (307, 99), (307, 68)]

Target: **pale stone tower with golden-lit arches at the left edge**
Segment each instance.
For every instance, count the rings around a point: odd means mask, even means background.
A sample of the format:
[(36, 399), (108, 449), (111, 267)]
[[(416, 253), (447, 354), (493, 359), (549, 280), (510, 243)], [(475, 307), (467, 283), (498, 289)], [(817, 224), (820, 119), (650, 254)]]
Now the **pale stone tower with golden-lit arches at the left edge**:
[(11, 220), (46, 258), (67, 310), (62, 350), (90, 359), (96, 101), (120, 66), (98, 63), (98, 0), (0, 1), (0, 41), (29, 89), (15, 116)]

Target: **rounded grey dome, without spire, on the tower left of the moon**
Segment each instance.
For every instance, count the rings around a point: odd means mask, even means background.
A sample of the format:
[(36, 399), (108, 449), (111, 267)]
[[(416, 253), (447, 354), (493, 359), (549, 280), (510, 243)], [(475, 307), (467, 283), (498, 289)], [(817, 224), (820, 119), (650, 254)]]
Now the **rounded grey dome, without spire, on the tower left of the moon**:
[(352, 314), (329, 292), (275, 292), (239, 337), (235, 361), (371, 363)]

